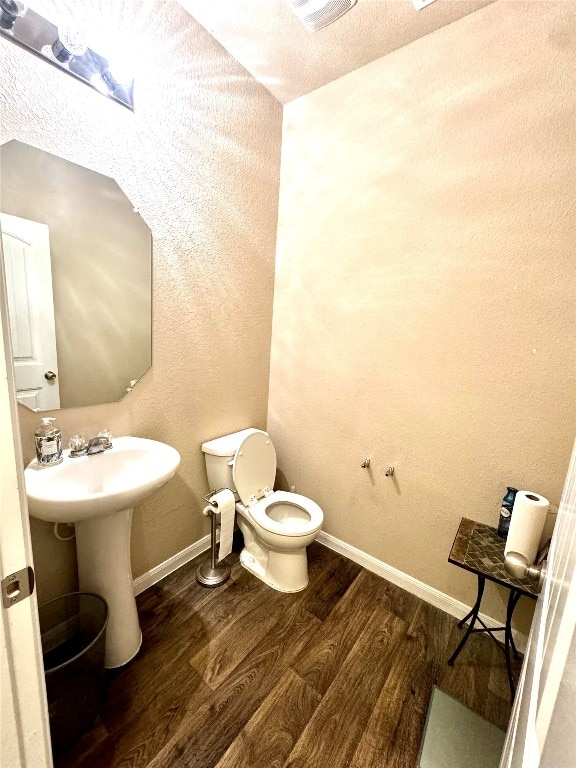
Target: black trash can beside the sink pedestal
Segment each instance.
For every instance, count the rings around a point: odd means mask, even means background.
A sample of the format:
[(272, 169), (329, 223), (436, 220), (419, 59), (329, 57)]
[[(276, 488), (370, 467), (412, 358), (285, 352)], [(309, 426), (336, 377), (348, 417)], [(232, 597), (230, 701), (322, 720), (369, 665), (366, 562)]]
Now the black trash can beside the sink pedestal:
[(62, 595), (39, 608), (54, 752), (70, 746), (98, 714), (105, 690), (108, 605), (90, 592)]

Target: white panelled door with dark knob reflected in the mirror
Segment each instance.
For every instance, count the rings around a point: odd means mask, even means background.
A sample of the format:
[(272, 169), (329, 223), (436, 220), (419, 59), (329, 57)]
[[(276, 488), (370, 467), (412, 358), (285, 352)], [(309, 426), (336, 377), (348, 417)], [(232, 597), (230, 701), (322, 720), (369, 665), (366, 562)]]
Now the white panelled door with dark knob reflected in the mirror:
[(0, 213), (16, 392), (33, 411), (60, 407), (46, 224)]

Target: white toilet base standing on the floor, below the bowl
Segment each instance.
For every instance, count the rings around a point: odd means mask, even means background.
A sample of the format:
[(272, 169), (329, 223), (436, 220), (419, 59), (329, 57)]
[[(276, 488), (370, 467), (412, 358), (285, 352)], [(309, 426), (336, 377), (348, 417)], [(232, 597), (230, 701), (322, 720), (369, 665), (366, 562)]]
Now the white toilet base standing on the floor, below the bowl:
[(308, 586), (306, 547), (291, 552), (267, 552), (261, 546), (244, 547), (240, 562), (256, 578), (279, 592), (301, 592)]

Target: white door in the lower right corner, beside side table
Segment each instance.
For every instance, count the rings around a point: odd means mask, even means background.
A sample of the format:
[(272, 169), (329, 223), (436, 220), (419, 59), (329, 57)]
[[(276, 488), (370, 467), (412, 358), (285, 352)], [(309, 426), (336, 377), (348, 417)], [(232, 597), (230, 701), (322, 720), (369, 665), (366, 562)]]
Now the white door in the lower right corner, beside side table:
[(501, 768), (576, 766), (576, 444)]

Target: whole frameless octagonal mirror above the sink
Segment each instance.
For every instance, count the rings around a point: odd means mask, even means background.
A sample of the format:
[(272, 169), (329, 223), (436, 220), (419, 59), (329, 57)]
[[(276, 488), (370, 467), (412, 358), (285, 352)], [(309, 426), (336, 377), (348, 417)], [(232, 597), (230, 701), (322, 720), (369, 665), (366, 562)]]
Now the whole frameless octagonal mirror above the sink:
[(17, 398), (120, 400), (152, 364), (152, 238), (114, 179), (18, 141), (0, 148)]

